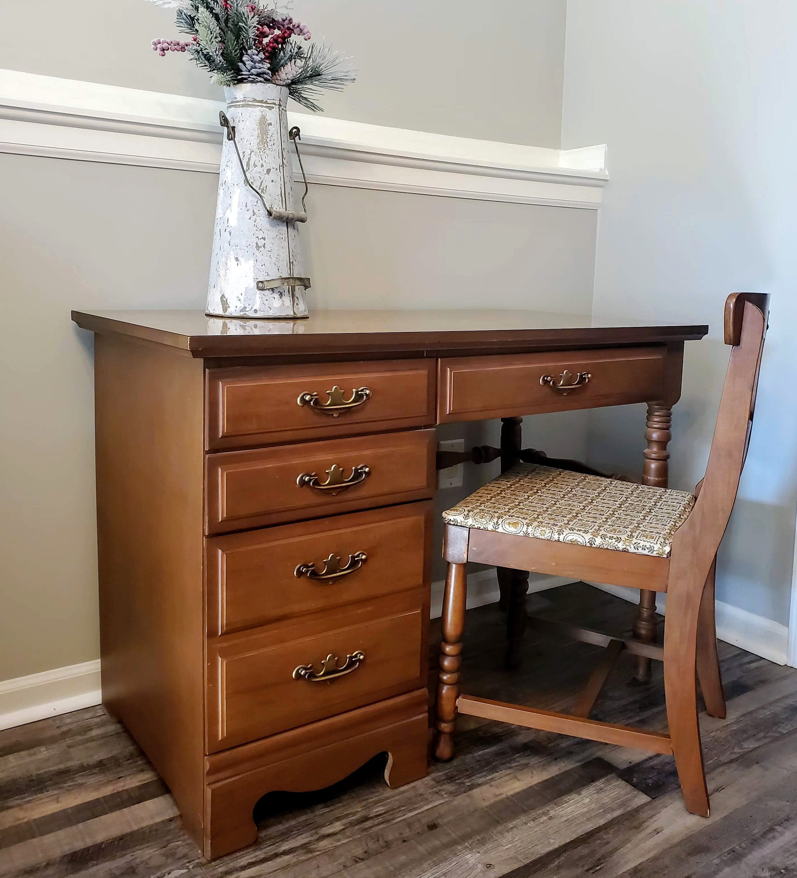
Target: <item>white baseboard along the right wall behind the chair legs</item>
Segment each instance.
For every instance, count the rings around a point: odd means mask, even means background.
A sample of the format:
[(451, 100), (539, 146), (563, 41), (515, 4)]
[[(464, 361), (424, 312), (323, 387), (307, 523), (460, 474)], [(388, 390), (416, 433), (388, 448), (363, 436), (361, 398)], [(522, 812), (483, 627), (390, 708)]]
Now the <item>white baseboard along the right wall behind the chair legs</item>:
[[(622, 586), (609, 586), (600, 582), (591, 582), (591, 586), (600, 588), (602, 591), (614, 594), (625, 601), (639, 601), (639, 591), (636, 588), (624, 588)], [(657, 612), (664, 615), (667, 606), (667, 595), (656, 595)], [(753, 655), (761, 656), (775, 662), (776, 665), (786, 665), (789, 630), (786, 625), (765, 619), (763, 615), (750, 613), (746, 609), (734, 607), (724, 601), (716, 601), (717, 637), (726, 644), (738, 646), (740, 649), (752, 652)]]

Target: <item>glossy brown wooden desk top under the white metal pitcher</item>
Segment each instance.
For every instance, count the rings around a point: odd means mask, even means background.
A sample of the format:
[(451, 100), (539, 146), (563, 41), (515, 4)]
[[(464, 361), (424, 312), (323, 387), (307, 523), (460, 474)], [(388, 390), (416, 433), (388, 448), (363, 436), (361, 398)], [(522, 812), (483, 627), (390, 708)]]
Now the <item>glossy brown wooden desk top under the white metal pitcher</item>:
[(691, 341), (706, 325), (545, 311), (313, 311), (306, 320), (234, 320), (201, 311), (73, 311), (83, 329), (196, 357), (487, 353)]

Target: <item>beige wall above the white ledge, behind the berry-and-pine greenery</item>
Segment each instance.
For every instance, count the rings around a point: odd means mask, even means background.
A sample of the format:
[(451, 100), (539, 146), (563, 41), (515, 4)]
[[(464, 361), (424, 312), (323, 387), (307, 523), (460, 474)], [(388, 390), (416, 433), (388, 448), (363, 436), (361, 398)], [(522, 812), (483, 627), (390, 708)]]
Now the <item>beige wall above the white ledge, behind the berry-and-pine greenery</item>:
[[(566, 0), (296, 0), (291, 7), (355, 61), (357, 82), (324, 97), (328, 115), (535, 147), (559, 146), (565, 8)], [(154, 54), (155, 37), (176, 36), (174, 11), (146, 0), (70, 7), (38, 0), (35, 14), (29, 2), (0, 3), (0, 67), (218, 98), (219, 88), (185, 55)]]

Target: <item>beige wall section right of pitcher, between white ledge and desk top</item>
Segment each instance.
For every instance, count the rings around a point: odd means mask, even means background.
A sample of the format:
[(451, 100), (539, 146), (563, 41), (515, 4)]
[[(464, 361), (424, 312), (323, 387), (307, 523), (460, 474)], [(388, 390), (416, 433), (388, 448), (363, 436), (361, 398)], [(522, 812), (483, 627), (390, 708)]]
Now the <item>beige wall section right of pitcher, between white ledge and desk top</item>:
[(336, 186), (308, 208), (312, 306), (589, 313), (595, 211)]

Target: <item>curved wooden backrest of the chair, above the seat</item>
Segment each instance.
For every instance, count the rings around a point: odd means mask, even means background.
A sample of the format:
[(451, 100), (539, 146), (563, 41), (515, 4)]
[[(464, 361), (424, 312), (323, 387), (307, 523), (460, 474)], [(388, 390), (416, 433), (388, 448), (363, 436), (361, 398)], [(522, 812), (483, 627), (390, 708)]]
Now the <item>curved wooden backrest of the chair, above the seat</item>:
[(725, 302), (725, 343), (732, 349), (714, 439), (693, 511), (672, 547), (674, 555), (679, 543), (692, 542), (703, 579), (728, 527), (750, 445), (768, 313), (766, 293), (735, 292)]

